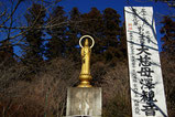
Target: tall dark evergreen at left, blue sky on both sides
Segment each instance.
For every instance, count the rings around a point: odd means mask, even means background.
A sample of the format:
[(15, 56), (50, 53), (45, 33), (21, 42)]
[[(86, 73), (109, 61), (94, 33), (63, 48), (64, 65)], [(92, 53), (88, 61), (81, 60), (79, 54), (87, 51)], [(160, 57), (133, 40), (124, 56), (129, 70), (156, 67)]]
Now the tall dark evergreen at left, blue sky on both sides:
[(32, 8), (25, 14), (29, 31), (24, 35), (25, 46), (23, 46), (24, 62), (37, 65), (43, 60), (43, 36), (42, 26), (44, 24), (45, 9), (41, 4), (33, 3)]

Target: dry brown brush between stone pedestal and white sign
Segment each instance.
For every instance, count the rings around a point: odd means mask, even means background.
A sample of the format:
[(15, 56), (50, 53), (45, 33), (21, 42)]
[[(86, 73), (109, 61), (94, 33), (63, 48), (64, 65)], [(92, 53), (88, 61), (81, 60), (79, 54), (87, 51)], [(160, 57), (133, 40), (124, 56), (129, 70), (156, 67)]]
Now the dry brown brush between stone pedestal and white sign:
[(118, 63), (103, 76), (103, 117), (131, 117), (128, 67)]

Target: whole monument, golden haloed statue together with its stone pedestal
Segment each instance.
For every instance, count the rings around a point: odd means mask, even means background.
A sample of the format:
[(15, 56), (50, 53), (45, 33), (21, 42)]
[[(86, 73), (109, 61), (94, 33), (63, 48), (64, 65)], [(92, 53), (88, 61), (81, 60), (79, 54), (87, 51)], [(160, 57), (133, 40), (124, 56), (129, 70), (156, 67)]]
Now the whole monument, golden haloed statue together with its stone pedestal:
[[(85, 38), (83, 46), (81, 41)], [(88, 39), (92, 41), (90, 46)], [(79, 40), (81, 47), (80, 84), (77, 87), (69, 87), (67, 91), (66, 117), (101, 117), (101, 88), (90, 85), (92, 78), (90, 75), (90, 53), (94, 44), (95, 41), (90, 35), (84, 35)]]

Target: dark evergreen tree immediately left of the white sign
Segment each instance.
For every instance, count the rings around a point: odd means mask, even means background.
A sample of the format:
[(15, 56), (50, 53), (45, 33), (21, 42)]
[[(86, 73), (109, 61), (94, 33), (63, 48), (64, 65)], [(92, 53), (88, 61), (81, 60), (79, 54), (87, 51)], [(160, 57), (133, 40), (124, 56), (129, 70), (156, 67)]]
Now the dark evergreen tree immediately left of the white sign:
[(120, 28), (120, 14), (111, 8), (107, 8), (103, 11), (103, 46), (106, 47), (103, 54), (106, 62), (114, 64), (117, 61), (122, 60), (125, 53), (122, 52), (125, 39), (122, 38), (123, 29)]

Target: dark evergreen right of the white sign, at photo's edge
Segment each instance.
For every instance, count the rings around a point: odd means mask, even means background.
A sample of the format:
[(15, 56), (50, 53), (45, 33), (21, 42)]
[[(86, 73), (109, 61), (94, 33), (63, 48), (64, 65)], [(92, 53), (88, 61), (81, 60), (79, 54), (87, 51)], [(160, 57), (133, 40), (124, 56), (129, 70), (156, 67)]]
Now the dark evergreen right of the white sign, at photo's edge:
[(164, 36), (161, 39), (162, 42), (164, 42), (162, 50), (163, 52), (175, 56), (175, 21), (168, 17), (164, 17), (161, 23), (164, 24), (161, 29), (161, 33), (164, 34)]

